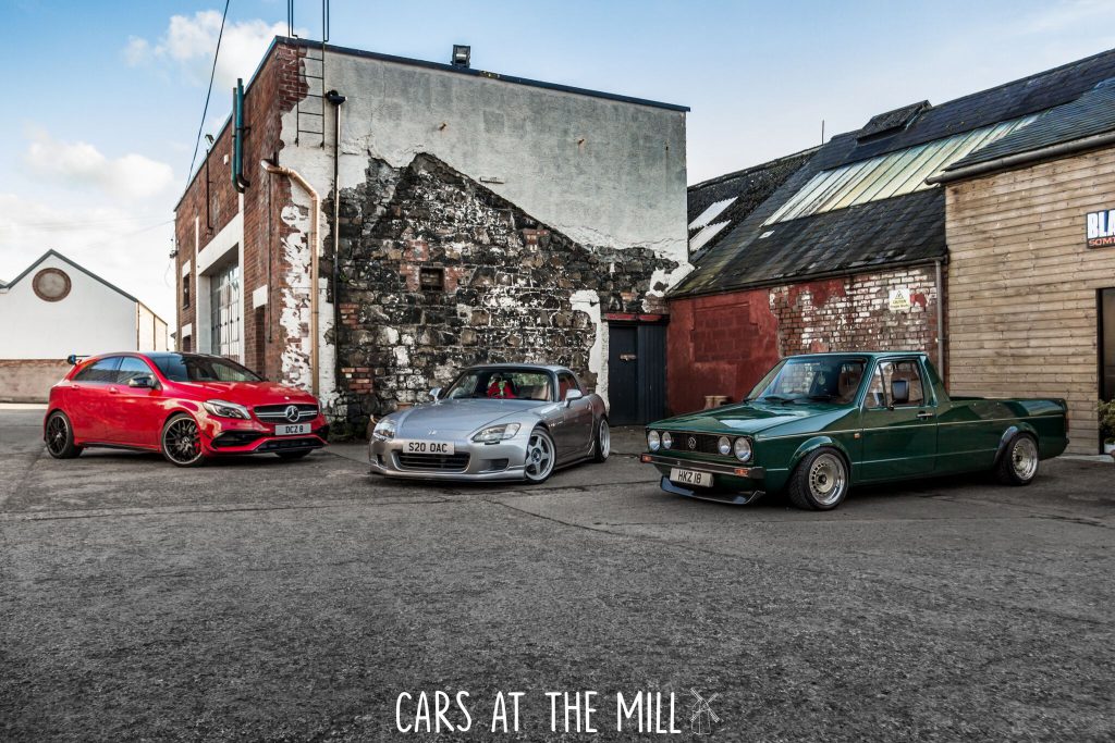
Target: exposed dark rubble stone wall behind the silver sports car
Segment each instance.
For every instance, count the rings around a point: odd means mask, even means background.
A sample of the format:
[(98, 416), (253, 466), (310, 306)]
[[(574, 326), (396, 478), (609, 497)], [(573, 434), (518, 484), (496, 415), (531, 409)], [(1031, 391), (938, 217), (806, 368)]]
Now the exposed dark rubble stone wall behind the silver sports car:
[[(677, 267), (650, 248), (574, 243), (429, 155), (401, 169), (372, 159), (340, 211), (333, 412), (350, 419), (414, 403), (478, 362), (565, 364), (594, 387), (602, 329), (574, 303), (589, 291), (604, 313), (661, 311), (648, 293)], [(444, 287), (424, 287), (423, 270)]]

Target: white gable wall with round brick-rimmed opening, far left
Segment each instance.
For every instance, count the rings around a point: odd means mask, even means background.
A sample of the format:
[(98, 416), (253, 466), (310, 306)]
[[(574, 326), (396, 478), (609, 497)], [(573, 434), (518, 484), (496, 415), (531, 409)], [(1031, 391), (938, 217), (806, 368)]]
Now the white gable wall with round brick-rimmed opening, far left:
[[(42, 268), (59, 268), (70, 293), (40, 300), (31, 287)], [(47, 256), (13, 286), (0, 290), (0, 359), (65, 359), (136, 350), (137, 304), (68, 261)]]

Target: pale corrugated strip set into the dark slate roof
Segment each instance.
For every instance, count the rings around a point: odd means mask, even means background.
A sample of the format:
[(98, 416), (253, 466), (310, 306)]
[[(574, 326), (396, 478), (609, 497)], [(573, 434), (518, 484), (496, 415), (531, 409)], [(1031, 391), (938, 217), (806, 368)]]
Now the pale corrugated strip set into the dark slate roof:
[(925, 178), (943, 170), (969, 153), (1028, 125), (1034, 119), (1032, 116), (1026, 116), (831, 170), (822, 170), (782, 208), (770, 215), (765, 224), (788, 222), (932, 188), (925, 183)]

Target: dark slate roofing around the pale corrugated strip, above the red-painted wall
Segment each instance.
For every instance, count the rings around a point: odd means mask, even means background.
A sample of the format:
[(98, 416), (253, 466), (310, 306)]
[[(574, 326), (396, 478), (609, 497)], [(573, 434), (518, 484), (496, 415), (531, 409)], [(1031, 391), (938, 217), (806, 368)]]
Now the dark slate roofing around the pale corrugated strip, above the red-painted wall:
[[(725, 231), (673, 289), (672, 299), (943, 258), (940, 186), (765, 225), (818, 173), (1072, 102), (1115, 77), (1115, 50), (958, 98), (912, 104), (833, 137), (738, 225)], [(906, 115), (912, 118), (903, 125)], [(1030, 126), (1034, 126), (1032, 124)], [(890, 128), (884, 128), (890, 127)]]

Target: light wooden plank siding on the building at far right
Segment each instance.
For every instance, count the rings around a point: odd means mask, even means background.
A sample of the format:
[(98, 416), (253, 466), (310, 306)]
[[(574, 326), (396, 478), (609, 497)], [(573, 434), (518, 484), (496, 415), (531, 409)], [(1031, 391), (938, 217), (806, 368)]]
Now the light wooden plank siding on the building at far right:
[(958, 395), (1068, 400), (1069, 452), (1099, 450), (1097, 299), (1115, 248), (1085, 215), (1115, 208), (1115, 148), (948, 186), (948, 381)]

